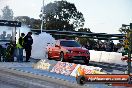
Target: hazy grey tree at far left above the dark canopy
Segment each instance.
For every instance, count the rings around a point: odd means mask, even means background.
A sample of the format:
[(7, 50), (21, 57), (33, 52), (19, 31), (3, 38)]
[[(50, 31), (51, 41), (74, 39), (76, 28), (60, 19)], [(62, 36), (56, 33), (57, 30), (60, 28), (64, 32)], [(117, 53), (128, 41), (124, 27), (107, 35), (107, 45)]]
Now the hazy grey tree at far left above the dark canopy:
[(13, 20), (13, 11), (9, 6), (5, 6), (2, 9), (2, 19), (3, 20)]

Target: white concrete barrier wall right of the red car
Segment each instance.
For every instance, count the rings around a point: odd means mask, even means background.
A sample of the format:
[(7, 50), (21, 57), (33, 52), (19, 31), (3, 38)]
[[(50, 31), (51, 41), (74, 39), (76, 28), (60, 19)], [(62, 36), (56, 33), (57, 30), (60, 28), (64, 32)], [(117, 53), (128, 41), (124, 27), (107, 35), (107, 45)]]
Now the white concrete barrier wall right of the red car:
[(90, 61), (127, 65), (126, 61), (121, 60), (122, 54), (117, 52), (90, 50), (90, 57)]

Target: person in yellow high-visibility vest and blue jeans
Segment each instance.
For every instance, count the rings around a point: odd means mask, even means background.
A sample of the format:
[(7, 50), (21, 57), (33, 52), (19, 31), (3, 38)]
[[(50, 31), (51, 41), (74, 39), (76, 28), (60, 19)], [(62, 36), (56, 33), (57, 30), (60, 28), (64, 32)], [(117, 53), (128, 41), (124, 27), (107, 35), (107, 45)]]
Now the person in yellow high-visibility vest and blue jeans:
[(23, 62), (23, 48), (24, 48), (24, 33), (21, 33), (20, 38), (18, 39), (16, 48), (17, 48), (17, 61)]

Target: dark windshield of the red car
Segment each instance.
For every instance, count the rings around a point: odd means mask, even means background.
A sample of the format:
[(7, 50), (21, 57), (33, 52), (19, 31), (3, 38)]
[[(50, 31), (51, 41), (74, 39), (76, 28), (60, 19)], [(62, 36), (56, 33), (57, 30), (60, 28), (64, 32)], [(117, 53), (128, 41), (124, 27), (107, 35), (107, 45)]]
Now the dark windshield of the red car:
[(60, 45), (65, 47), (81, 47), (76, 41), (61, 41)]

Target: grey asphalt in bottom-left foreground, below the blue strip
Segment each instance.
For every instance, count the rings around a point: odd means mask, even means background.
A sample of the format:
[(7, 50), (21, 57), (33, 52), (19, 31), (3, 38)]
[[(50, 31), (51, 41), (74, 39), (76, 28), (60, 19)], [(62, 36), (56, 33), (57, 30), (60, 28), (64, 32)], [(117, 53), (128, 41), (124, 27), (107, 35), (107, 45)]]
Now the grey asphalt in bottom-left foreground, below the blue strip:
[(86, 86), (80, 86), (63, 80), (5, 68), (0, 68), (0, 82), (15, 86), (14, 88), (87, 88)]

